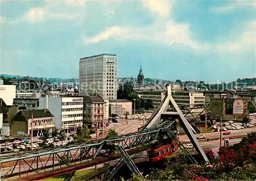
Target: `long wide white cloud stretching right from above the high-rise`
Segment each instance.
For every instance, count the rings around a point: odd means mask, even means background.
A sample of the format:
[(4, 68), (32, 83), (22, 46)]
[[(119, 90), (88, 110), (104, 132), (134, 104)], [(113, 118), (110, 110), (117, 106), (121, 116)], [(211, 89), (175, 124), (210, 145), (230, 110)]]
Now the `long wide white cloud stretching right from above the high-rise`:
[[(162, 25), (161, 27), (159, 25)], [(186, 46), (194, 50), (209, 49), (206, 44), (198, 43), (190, 38), (189, 25), (175, 24), (173, 21), (157, 22), (151, 27), (118, 27), (105, 29), (94, 37), (84, 38), (84, 43), (95, 43), (108, 39), (140, 40), (146, 39), (160, 42), (168, 46)]]

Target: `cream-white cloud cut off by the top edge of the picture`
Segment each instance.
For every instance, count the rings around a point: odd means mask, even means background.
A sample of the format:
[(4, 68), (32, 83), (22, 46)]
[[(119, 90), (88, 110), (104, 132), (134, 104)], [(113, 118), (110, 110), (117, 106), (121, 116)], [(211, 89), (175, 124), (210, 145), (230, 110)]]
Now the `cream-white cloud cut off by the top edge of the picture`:
[(141, 3), (150, 11), (157, 13), (162, 17), (167, 17), (173, 8), (174, 1), (141, 0)]

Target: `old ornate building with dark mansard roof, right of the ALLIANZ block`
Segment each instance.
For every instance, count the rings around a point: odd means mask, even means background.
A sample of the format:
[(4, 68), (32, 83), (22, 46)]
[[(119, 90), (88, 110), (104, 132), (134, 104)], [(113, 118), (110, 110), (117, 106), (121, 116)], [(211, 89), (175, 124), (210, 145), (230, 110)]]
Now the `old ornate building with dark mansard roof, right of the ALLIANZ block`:
[(97, 92), (83, 97), (83, 124), (89, 129), (105, 127), (105, 112), (105, 101)]

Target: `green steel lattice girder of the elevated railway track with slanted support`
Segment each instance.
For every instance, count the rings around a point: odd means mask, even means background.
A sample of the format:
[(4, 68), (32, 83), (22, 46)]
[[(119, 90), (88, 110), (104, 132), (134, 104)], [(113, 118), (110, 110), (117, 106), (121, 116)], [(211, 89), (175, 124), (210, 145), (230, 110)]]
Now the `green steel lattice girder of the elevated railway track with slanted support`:
[[(122, 158), (134, 174), (140, 174), (131, 163), (129, 154), (135, 154), (150, 148), (153, 140), (162, 141), (164, 135), (173, 130), (167, 124), (134, 134), (120, 135), (116, 138), (74, 144), (53, 150), (41, 150), (25, 155), (3, 157), (0, 161), (2, 179), (35, 180), (70, 173), (111, 160)], [(175, 132), (175, 131), (174, 131)], [(69, 180), (67, 178), (66, 180)]]

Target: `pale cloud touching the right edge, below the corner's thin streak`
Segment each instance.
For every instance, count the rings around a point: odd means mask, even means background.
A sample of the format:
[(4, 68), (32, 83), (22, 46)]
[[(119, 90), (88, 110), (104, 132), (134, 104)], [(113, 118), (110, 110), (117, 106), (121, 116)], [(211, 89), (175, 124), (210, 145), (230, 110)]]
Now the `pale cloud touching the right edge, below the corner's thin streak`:
[(215, 46), (220, 52), (245, 52), (256, 51), (256, 21), (245, 23), (245, 31), (237, 39), (226, 43), (219, 43)]

